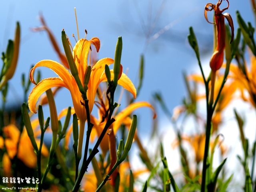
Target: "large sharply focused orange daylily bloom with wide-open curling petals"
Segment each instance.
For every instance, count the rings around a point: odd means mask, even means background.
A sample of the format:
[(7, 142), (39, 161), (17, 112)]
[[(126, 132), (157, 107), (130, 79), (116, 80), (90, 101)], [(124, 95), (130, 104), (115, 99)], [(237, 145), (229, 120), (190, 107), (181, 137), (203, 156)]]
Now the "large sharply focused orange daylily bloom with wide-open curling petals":
[[(100, 49), (100, 40), (98, 38), (92, 38), (91, 40), (80, 39), (73, 49), (73, 57), (76, 64), (76, 68), (78, 69), (78, 76), (80, 81), (84, 81), (84, 75), (86, 72), (86, 68), (88, 66), (88, 53), (90, 51), (90, 46), (93, 44), (98, 51)], [(114, 62), (111, 58), (104, 58), (96, 62), (96, 64), (92, 67), (90, 80), (88, 83), (88, 90), (87, 90), (87, 98), (89, 100), (89, 110), (92, 111), (94, 105), (94, 99), (96, 95), (97, 88), (100, 82), (107, 81), (105, 75), (105, 65), (110, 65)], [(90, 63), (90, 62), (89, 62)], [(43, 79), (41, 82), (36, 84), (34, 81), (34, 70), (37, 67), (44, 66), (53, 70), (59, 77), (54, 78), (46, 78)], [(110, 70), (111, 78), (114, 76), (113, 70)], [(36, 113), (36, 102), (38, 98), (48, 89), (52, 87), (66, 87), (71, 94), (74, 110), (80, 122), (80, 130), (79, 130), (79, 140), (82, 140), (84, 136), (84, 126), (87, 120), (86, 110), (81, 103), (83, 101), (82, 95), (79, 91), (79, 88), (76, 84), (75, 78), (70, 74), (70, 72), (58, 62), (52, 60), (42, 60), (38, 62), (30, 71), (30, 80), (36, 86), (32, 89), (28, 97), (28, 107), (30, 108), (31, 112)], [(136, 98), (136, 89), (132, 84), (131, 80), (126, 76), (126, 74), (122, 73), (120, 79), (118, 80), (118, 84), (123, 86), (126, 90), (131, 92)], [(78, 151), (82, 151), (82, 146), (78, 146)]]

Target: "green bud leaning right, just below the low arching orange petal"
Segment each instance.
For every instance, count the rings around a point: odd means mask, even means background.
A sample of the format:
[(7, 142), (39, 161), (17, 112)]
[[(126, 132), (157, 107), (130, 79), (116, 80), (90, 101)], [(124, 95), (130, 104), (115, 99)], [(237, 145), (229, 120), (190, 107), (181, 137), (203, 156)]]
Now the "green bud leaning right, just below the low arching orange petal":
[(125, 146), (124, 146), (124, 152), (123, 152), (123, 154), (120, 158), (120, 160), (122, 160), (122, 161), (125, 160), (126, 156), (128, 155), (128, 152), (131, 149), (132, 141), (133, 141), (134, 134), (135, 134), (135, 131), (136, 131), (136, 126), (137, 126), (137, 116), (133, 115), (132, 124), (130, 126), (128, 137), (127, 137), (127, 140), (126, 140), (126, 143), (125, 143)]

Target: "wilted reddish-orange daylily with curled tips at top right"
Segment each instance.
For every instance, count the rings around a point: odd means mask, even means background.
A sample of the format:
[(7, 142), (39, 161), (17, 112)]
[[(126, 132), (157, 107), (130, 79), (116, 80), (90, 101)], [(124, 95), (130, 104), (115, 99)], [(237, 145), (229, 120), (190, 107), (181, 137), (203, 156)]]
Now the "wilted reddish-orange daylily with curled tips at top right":
[[(228, 0), (226, 0), (226, 1), (228, 2)], [(209, 22), (208, 18), (207, 18), (207, 11), (214, 10), (214, 12), (215, 12), (214, 18), (215, 18), (215, 24), (216, 24), (217, 46), (216, 46), (216, 49), (215, 49), (214, 53), (212, 54), (212, 58), (210, 60), (210, 67), (211, 67), (212, 71), (216, 71), (216, 70), (220, 69), (220, 67), (222, 66), (222, 63), (223, 63), (224, 49), (225, 49), (225, 38), (226, 38), (226, 28), (225, 28), (224, 18), (226, 18), (228, 20), (228, 24), (231, 27), (231, 33), (232, 33), (231, 42), (234, 39), (234, 24), (233, 24), (232, 17), (228, 13), (222, 14), (222, 12), (224, 12), (224, 10), (228, 9), (229, 2), (228, 2), (228, 6), (226, 8), (220, 10), (219, 6), (221, 3), (222, 3), (222, 0), (219, 0), (216, 5), (212, 4), (212, 3), (208, 3), (208, 4), (206, 4), (205, 10), (204, 10), (204, 17), (206, 18), (207, 22)], [(210, 9), (209, 9), (209, 7), (210, 7)], [(212, 23), (212, 22), (209, 22), (209, 23)]]

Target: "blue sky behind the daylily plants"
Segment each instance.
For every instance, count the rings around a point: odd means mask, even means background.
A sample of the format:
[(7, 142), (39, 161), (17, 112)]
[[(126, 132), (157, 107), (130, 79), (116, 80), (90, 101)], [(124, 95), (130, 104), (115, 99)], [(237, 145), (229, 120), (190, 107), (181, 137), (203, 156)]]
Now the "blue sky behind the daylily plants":
[[(84, 29), (88, 31), (87, 38), (97, 36), (101, 41), (98, 58), (114, 58), (114, 50), (118, 36), (122, 36), (123, 51), (121, 63), (129, 68), (128, 76), (138, 84), (138, 68), (140, 54), (144, 54), (145, 71), (142, 90), (137, 100), (152, 100), (152, 94), (161, 92), (167, 107), (172, 108), (181, 104), (186, 94), (182, 72), (198, 71), (196, 57), (187, 42), (189, 26), (193, 26), (197, 35), (202, 59), (209, 57), (212, 52), (212, 25), (204, 18), (206, 3), (216, 3), (209, 0), (183, 1), (128, 0), (128, 1), (16, 1), (1, 2), (0, 6), (0, 50), (6, 49), (8, 38), (13, 38), (15, 22), (19, 21), (22, 30), (20, 58), (14, 78), (10, 82), (8, 104), (22, 102), (21, 74), (28, 74), (30, 66), (44, 59), (58, 60), (46, 32), (32, 32), (31, 28), (41, 26), (38, 15), (43, 14), (47, 25), (54, 33), (61, 46), (61, 30), (72, 40), (72, 34), (77, 36), (74, 7), (76, 7), (80, 37), (84, 36)], [(226, 6), (223, 2), (222, 8)], [(232, 16), (237, 28), (236, 13), (239, 10), (245, 21), (254, 24), (250, 1), (232, 1), (226, 11)], [(154, 19), (159, 15), (158, 20)], [(209, 18), (211, 15), (208, 15)], [(147, 35), (152, 37), (168, 24), (172, 27), (159, 38), (146, 44)], [(152, 28), (152, 26), (154, 26)], [(152, 29), (151, 33), (148, 33)], [(75, 44), (74, 40), (72, 42)], [(205, 69), (209, 69), (206, 64)], [(42, 78), (55, 76), (50, 70), (41, 69)], [(17, 97), (16, 94), (18, 94)], [(63, 98), (67, 98), (63, 100)], [(117, 99), (116, 99), (117, 100)], [(125, 100), (125, 98), (123, 98)], [(72, 105), (68, 90), (62, 90), (56, 96), (58, 112), (64, 107)], [(164, 116), (158, 110), (160, 119)], [(143, 115), (142, 115), (143, 114)], [(141, 117), (142, 130), (151, 126), (148, 118), (151, 111), (138, 110)]]

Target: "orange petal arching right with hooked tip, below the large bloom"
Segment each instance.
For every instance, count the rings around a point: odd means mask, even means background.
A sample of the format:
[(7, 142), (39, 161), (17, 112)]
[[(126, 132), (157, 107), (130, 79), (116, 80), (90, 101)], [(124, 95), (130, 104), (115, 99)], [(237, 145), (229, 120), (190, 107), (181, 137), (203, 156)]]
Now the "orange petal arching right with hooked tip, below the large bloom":
[(153, 118), (156, 118), (156, 112), (155, 112), (153, 106), (150, 103), (145, 102), (145, 101), (132, 103), (116, 115), (116, 117), (115, 117), (116, 121), (113, 122), (114, 133), (117, 132), (117, 130), (120, 127), (120, 125), (122, 124), (123, 120), (128, 115), (130, 115), (132, 113), (132, 111), (134, 111), (134, 110), (136, 110), (137, 108), (140, 108), (140, 107), (149, 107), (149, 108), (151, 108), (154, 112), (154, 117)]

